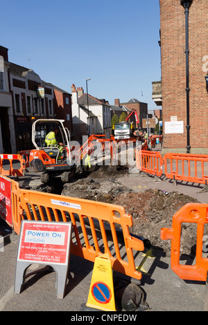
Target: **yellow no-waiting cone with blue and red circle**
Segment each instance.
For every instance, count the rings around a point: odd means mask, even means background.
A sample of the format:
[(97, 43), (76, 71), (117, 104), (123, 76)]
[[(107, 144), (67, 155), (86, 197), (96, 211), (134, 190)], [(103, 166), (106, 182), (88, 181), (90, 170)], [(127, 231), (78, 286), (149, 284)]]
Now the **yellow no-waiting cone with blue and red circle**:
[(86, 306), (116, 311), (112, 266), (108, 254), (95, 259)]

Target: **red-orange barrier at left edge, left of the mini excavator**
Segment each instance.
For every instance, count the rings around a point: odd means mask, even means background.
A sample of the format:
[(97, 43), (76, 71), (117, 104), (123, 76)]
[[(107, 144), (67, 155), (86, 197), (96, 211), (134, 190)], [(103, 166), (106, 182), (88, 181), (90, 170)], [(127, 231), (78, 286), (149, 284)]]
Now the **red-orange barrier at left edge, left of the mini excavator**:
[(1, 175), (24, 176), (25, 169), (26, 169), (26, 161), (22, 158), (21, 155), (0, 154)]

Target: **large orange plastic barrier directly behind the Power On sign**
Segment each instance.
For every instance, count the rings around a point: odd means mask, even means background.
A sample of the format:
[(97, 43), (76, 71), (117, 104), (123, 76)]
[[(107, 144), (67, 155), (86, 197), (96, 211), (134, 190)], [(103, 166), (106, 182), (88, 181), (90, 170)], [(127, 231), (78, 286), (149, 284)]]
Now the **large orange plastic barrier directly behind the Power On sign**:
[[(73, 225), (72, 254), (94, 261), (97, 256), (108, 253), (114, 270), (135, 279), (141, 279), (141, 272), (135, 268), (132, 250), (143, 251), (144, 242), (130, 236), (129, 227), (132, 227), (132, 216), (125, 214), (123, 207), (20, 189), (19, 184), (12, 180), (12, 223), (17, 234), (19, 234), (22, 219), (71, 221)], [(96, 223), (99, 225), (100, 232), (96, 230)], [(123, 231), (125, 255), (128, 261), (125, 261), (123, 256), (121, 257), (115, 224), (120, 225)], [(112, 236), (110, 245), (106, 225)], [(99, 236), (100, 239), (98, 239)]]

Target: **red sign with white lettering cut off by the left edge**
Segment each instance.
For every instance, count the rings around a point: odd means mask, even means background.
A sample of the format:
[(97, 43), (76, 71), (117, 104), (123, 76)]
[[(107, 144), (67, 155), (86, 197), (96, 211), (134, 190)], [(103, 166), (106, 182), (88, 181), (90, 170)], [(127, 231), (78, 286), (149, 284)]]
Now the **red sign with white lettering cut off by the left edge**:
[(11, 182), (0, 176), (0, 217), (12, 227)]

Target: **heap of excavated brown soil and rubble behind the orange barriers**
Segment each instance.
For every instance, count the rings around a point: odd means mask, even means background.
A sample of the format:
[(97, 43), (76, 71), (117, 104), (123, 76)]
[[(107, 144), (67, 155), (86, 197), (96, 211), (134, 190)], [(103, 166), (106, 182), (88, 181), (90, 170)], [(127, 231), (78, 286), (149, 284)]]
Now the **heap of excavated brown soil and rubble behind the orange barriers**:
[[(185, 204), (198, 201), (179, 192), (167, 194), (159, 189), (135, 193), (123, 187), (117, 179), (127, 172), (125, 169), (116, 171), (116, 167), (102, 166), (89, 176), (64, 185), (62, 195), (122, 205), (125, 212), (132, 215), (130, 232), (143, 236), (151, 245), (163, 249), (170, 256), (171, 241), (160, 239), (161, 228), (171, 228), (173, 214)], [(181, 254), (194, 257), (196, 228), (193, 224), (182, 225), (181, 239)]]

